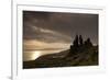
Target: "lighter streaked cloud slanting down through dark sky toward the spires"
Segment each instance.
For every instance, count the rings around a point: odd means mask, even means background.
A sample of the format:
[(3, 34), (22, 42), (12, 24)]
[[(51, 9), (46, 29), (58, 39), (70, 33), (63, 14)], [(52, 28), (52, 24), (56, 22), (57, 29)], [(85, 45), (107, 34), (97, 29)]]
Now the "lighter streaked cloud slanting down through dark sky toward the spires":
[[(37, 27), (37, 26), (31, 26), (32, 35), (28, 35), (31, 39), (38, 39), (46, 43), (67, 43), (72, 41), (70, 36), (64, 35), (59, 32)], [(33, 37), (33, 38), (32, 38)]]

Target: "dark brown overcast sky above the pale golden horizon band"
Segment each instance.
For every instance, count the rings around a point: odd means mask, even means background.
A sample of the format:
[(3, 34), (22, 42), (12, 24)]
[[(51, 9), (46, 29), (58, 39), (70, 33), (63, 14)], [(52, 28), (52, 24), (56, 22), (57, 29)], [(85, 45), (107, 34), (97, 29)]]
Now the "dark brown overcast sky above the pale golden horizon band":
[(76, 34), (98, 44), (98, 14), (23, 11), (23, 39), (72, 43)]

